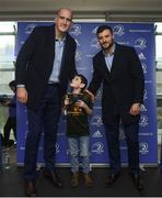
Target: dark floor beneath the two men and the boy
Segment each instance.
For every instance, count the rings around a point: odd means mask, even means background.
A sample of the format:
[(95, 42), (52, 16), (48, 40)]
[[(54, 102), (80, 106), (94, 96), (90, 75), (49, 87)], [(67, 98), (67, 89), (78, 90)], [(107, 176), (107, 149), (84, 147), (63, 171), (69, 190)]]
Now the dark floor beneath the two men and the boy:
[[(23, 168), (15, 163), (15, 147), (10, 150), (10, 167), (3, 167), (0, 174), (0, 197), (23, 197)], [(92, 168), (93, 187), (88, 188), (80, 180), (78, 188), (70, 186), (69, 167), (58, 167), (63, 182), (63, 189), (56, 189), (42, 174), (36, 183), (39, 197), (162, 197), (162, 174), (158, 167), (147, 167), (142, 170), (144, 190), (139, 193), (132, 184), (127, 168), (123, 168), (121, 177), (111, 188), (105, 188), (104, 180), (108, 174), (105, 167)]]

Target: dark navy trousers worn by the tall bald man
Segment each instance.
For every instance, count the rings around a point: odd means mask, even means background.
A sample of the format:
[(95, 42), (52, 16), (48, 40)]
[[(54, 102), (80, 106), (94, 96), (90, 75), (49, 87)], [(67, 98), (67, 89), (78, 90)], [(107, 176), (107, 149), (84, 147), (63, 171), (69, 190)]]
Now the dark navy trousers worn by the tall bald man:
[(34, 180), (36, 176), (36, 160), (39, 140), (44, 131), (44, 160), (49, 170), (55, 169), (56, 139), (58, 121), (60, 116), (60, 99), (58, 84), (49, 84), (39, 109), (37, 111), (27, 109), (28, 133), (26, 136), (24, 178)]

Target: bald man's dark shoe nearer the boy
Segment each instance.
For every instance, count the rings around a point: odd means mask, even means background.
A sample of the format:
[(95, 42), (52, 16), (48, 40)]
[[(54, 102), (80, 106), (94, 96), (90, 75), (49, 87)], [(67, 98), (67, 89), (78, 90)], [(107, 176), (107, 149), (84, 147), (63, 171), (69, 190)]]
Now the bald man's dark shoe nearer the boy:
[(54, 184), (55, 187), (57, 188), (63, 187), (56, 172), (44, 169), (44, 176), (47, 177)]

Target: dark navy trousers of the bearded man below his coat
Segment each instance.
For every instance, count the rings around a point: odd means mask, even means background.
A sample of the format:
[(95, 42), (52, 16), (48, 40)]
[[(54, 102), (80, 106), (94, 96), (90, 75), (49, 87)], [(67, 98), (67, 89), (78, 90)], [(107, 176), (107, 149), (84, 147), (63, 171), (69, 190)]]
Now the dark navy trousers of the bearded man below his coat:
[[(139, 122), (123, 124), (128, 150), (130, 173), (139, 174)], [(105, 133), (109, 154), (111, 172), (120, 172), (119, 117), (114, 124), (105, 124)]]

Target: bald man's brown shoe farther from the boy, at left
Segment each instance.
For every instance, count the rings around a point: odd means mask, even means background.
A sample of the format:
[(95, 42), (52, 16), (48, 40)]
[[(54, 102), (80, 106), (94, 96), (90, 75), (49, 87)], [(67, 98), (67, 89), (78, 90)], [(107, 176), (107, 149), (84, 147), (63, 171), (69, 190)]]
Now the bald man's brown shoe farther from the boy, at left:
[(24, 190), (25, 190), (25, 196), (27, 196), (27, 197), (36, 196), (35, 184), (31, 180), (25, 180)]

